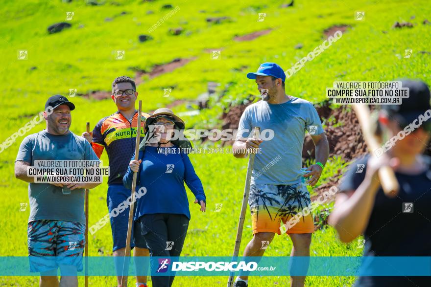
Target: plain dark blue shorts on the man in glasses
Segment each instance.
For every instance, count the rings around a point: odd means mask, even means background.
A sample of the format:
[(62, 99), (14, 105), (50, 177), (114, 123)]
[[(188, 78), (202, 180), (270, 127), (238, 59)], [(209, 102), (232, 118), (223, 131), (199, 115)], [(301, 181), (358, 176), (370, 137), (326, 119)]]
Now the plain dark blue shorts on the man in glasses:
[[(129, 198), (131, 193), (132, 193), (131, 190), (126, 189), (123, 185), (120, 185), (120, 184), (109, 185), (108, 196), (106, 197), (106, 203), (108, 204), (109, 213), (111, 215), (117, 214), (117, 212), (111, 213), (112, 210), (114, 208), (117, 208), (121, 202)], [(112, 251), (126, 247), (127, 225), (129, 224), (129, 210), (130, 210), (130, 207), (127, 206), (127, 208), (123, 212), (118, 214), (116, 217), (114, 216), (110, 217), (112, 241), (114, 242)], [(135, 202), (135, 211), (136, 211), (136, 202)], [(131, 248), (135, 247), (133, 229), (134, 228), (132, 226), (132, 236), (130, 241)], [(141, 241), (138, 244), (136, 244), (136, 247), (147, 248), (146, 243)]]

